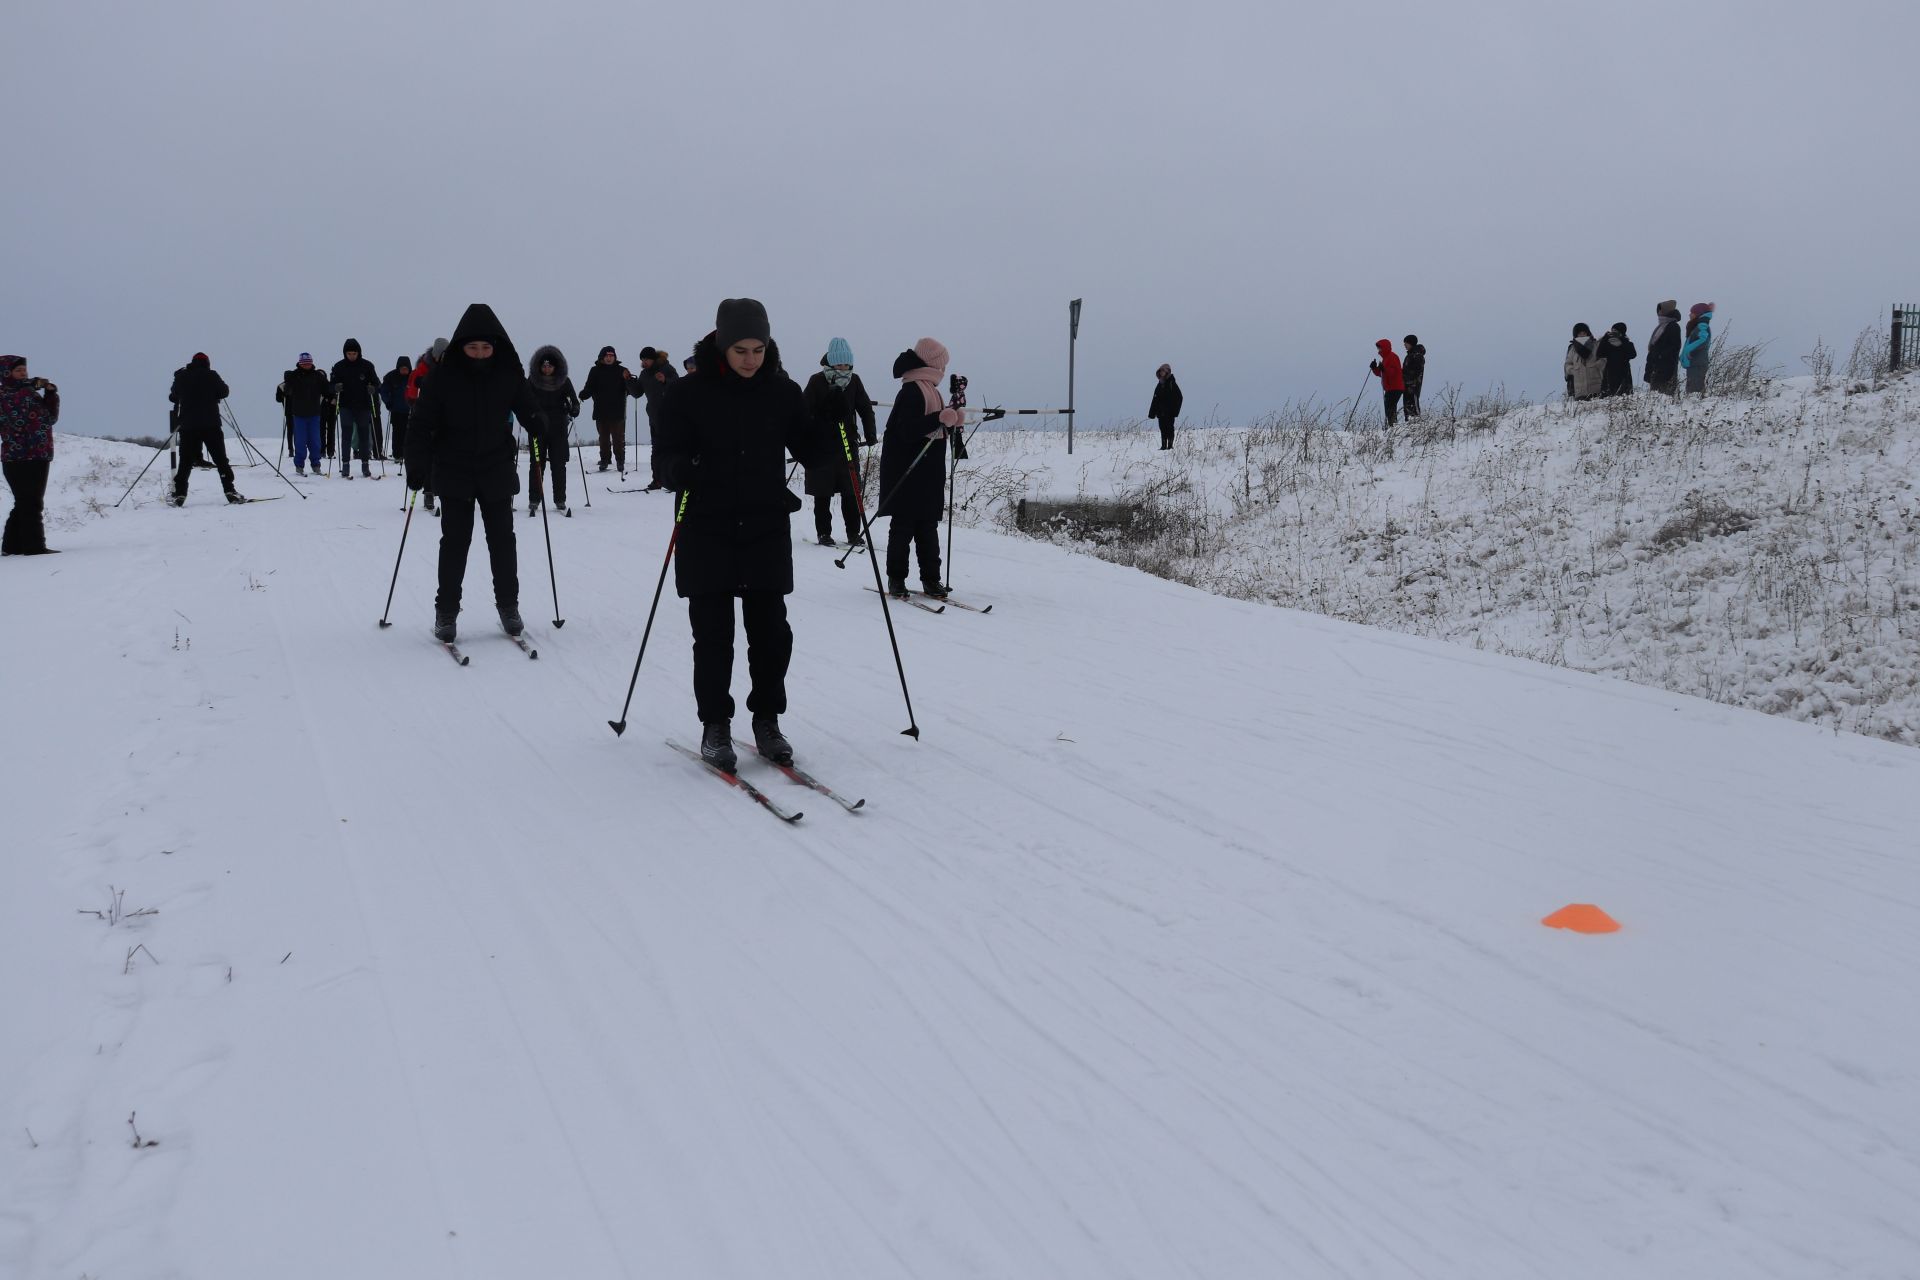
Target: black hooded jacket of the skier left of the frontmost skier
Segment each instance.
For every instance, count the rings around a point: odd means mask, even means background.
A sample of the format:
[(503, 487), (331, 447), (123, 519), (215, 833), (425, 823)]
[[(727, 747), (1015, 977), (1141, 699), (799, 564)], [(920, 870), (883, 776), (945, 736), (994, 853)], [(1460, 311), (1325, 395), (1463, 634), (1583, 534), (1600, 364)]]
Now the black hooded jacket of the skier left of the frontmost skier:
[[(482, 338), (493, 355), (468, 359), (463, 347)], [(540, 405), (493, 309), (474, 303), (453, 328), (447, 357), (420, 384), (407, 422), (407, 484), (455, 499), (513, 497), (520, 491), (513, 418), (538, 430)]]

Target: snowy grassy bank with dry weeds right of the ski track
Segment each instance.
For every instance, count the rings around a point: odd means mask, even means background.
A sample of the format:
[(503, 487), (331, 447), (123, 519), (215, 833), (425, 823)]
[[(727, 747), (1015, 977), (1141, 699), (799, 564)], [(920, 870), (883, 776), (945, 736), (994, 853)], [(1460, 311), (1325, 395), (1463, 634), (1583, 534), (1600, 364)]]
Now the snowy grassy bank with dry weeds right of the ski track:
[(1085, 432), (1071, 459), (1058, 432), (981, 432), (960, 491), (987, 522), (1021, 491), (1150, 501), (1160, 535), (1098, 555), (1920, 745), (1920, 378), (1532, 405), (1390, 455), (1379, 432), (1300, 426), (1173, 453), (1150, 426)]

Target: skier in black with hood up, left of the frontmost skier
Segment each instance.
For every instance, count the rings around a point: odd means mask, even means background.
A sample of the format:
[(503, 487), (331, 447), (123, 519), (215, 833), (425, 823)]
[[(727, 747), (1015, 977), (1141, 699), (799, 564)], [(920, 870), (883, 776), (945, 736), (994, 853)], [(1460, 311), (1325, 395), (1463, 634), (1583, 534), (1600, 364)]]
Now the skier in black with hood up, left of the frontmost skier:
[(513, 464), (513, 418), (538, 432), (540, 405), (505, 326), (486, 303), (467, 307), (453, 328), (445, 359), (420, 384), (407, 426), (407, 487), (432, 486), (440, 495), (440, 595), (434, 597), (434, 637), (451, 643), (467, 578), (467, 549), (474, 539), (474, 507), (486, 524), (493, 562), (493, 606), (509, 635), (518, 635), (520, 566), (513, 545), (513, 495), (520, 472)]

